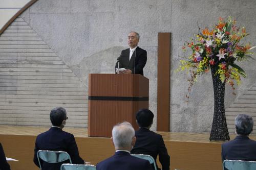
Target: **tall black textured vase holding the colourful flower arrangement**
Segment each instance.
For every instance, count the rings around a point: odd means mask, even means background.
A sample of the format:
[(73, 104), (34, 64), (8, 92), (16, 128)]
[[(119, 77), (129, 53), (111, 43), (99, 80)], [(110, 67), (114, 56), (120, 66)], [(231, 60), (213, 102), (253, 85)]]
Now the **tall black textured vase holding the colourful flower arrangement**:
[(214, 119), (212, 120), (210, 140), (229, 140), (225, 115), (225, 82), (219, 75), (215, 75), (215, 68), (211, 67), (212, 82), (214, 83)]

